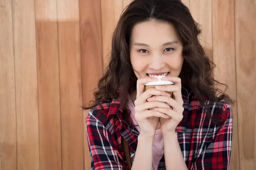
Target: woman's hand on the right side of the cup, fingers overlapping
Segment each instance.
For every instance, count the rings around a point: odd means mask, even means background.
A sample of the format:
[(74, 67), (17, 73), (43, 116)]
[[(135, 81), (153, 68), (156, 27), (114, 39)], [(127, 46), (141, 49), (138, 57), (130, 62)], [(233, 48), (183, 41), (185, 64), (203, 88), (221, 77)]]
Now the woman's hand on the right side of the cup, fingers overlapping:
[(155, 111), (165, 113), (169, 118), (160, 118), (161, 131), (165, 133), (175, 133), (175, 128), (183, 119), (183, 99), (181, 95), (181, 80), (179, 77), (163, 77), (163, 80), (169, 80), (175, 85), (156, 86), (158, 91), (173, 92), (173, 98), (168, 96), (153, 96), (148, 101), (165, 102), (171, 108), (154, 108)]

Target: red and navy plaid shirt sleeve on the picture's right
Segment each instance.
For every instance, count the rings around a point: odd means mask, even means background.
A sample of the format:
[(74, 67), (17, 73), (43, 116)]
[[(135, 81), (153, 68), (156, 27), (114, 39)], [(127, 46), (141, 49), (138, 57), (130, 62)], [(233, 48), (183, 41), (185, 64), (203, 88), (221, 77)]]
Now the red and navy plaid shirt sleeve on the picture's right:
[(227, 170), (230, 162), (232, 144), (232, 109), (224, 104), (221, 115), (227, 118), (213, 130), (212, 141), (195, 161), (193, 170)]

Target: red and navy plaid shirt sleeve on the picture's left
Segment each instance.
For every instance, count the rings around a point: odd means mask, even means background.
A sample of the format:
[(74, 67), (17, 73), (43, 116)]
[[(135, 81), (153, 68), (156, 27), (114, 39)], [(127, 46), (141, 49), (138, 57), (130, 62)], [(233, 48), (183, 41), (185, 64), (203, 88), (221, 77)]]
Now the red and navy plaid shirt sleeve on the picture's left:
[(125, 170), (125, 163), (116, 148), (117, 141), (91, 112), (86, 118), (86, 130), (91, 170)]

